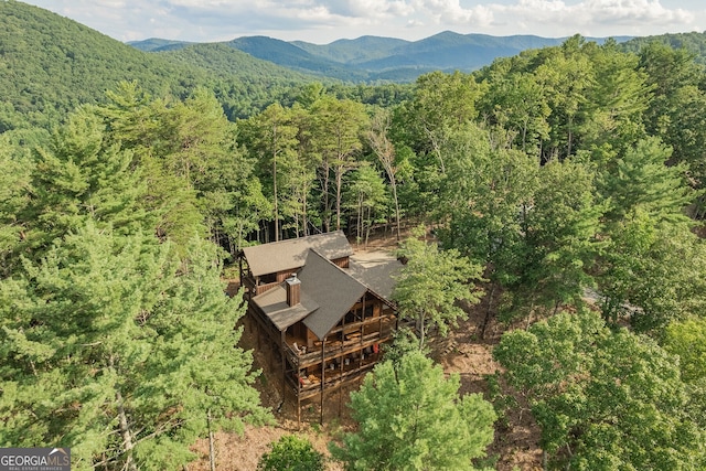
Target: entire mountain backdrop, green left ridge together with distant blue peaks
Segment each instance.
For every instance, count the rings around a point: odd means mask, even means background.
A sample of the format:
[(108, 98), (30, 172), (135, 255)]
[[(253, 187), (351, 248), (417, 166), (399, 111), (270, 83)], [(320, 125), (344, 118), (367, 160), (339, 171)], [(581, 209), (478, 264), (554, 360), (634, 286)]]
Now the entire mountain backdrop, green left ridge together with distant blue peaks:
[[(704, 33), (614, 40), (632, 52), (660, 41), (684, 47), (706, 64)], [(45, 9), (0, 0), (0, 133), (47, 126), (78, 105), (104, 100), (106, 90), (120, 82), (136, 82), (154, 97), (185, 98), (194, 88), (206, 87), (231, 119), (275, 101), (291, 103), (298, 89), (313, 82), (342, 96), (360, 93), (371, 103), (389, 104), (424, 73), (475, 71), (496, 57), (564, 41), (443, 32), (420, 41), (362, 36), (324, 45), (266, 36), (126, 44)]]

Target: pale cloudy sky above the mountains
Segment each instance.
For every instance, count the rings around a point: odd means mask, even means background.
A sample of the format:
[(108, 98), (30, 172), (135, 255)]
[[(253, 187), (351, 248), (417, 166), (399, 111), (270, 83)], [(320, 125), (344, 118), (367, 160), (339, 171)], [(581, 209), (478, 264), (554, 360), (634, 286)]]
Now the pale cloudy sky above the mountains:
[(24, 0), (118, 41), (266, 35), (328, 44), (363, 35), (417, 41), (442, 31), (496, 36), (704, 32), (704, 0)]

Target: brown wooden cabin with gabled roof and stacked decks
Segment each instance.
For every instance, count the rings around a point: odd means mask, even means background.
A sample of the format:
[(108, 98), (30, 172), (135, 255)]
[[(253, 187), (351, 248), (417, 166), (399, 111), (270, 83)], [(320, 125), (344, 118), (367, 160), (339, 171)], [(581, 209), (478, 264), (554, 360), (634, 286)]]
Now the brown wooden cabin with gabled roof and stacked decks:
[(397, 329), (389, 301), (392, 260), (355, 261), (342, 232), (244, 248), (240, 280), (248, 315), (281, 363), (282, 400), (319, 398), (359, 381)]

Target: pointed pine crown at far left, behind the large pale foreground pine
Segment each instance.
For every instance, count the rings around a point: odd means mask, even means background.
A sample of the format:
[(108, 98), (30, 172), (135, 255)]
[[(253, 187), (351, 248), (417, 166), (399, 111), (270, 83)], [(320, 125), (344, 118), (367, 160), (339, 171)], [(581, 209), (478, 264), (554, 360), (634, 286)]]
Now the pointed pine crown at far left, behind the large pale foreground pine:
[(142, 206), (147, 188), (131, 165), (132, 152), (104, 139), (100, 119), (79, 108), (50, 146), (34, 150), (31, 197), (18, 214), (26, 256), (42, 256), (55, 239), (87, 221), (119, 234), (151, 228), (154, 220)]

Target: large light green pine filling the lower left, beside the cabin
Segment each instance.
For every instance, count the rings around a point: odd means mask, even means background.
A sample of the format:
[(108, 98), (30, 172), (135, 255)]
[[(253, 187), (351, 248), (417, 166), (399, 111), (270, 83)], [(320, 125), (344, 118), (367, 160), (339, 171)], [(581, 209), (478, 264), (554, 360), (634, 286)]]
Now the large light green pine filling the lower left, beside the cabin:
[(267, 417), (252, 358), (233, 349), (239, 331), (223, 329), (243, 311), (213, 254), (179, 267), (170, 253), (87, 225), (0, 283), (0, 375), (12, 392), (0, 442), (71, 447), (77, 469), (173, 469), (194, 459), (208, 414), (235, 430)]

